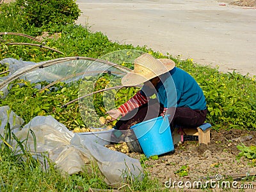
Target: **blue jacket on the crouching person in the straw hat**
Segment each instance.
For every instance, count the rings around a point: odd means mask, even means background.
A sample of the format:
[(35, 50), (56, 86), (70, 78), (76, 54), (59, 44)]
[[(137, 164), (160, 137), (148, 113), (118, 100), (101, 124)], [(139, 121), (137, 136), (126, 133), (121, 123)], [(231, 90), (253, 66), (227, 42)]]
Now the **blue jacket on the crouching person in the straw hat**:
[(159, 78), (161, 81), (157, 84), (155, 92), (143, 86), (141, 88), (142, 94), (150, 97), (156, 93), (157, 99), (164, 108), (206, 109), (202, 88), (184, 70), (175, 67)]

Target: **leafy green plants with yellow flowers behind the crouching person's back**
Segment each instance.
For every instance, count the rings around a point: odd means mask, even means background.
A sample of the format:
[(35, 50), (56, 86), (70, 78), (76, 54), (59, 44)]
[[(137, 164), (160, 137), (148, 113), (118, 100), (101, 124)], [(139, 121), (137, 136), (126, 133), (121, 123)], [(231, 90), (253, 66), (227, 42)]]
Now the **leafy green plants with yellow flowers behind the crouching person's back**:
[(200, 66), (191, 60), (175, 60), (195, 77), (207, 102), (207, 122), (213, 129), (256, 129), (255, 77), (236, 72), (222, 73), (216, 68)]

